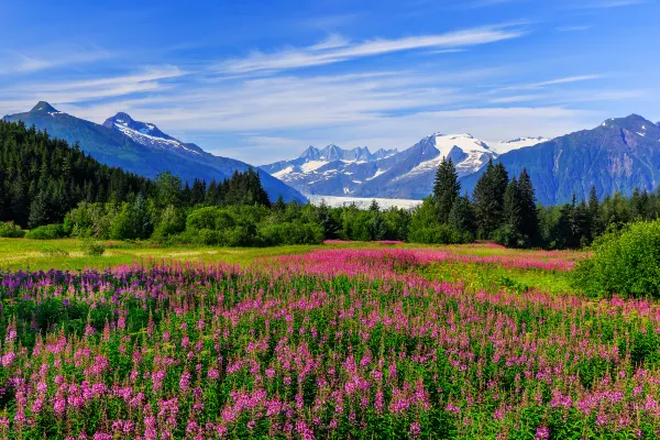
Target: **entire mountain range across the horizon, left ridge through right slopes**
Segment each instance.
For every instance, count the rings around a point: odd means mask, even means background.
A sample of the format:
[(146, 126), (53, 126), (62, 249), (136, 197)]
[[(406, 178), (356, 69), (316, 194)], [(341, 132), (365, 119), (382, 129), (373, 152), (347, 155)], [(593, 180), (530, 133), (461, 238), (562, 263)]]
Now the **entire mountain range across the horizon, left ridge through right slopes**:
[[(210, 182), (251, 167), (215, 156), (122, 112), (97, 124), (42, 101), (29, 112), (3, 119), (35, 125), (52, 136), (77, 143), (101, 163), (146, 177), (169, 170), (184, 180)], [(442, 157), (453, 161), (462, 191), (468, 194), (472, 194), (487, 162), (494, 161), (503, 163), (512, 176), (527, 168), (537, 199), (543, 205), (569, 202), (573, 195), (587, 198), (592, 186), (601, 198), (615, 191), (628, 196), (635, 188), (653, 190), (660, 185), (660, 123), (631, 114), (552, 140), (519, 138), (508, 142), (485, 142), (468, 133), (433, 133), (404, 151), (374, 153), (366, 146), (309, 146), (299, 157), (260, 168), (272, 199), (279, 195), (286, 201), (301, 202), (306, 196), (421, 199), (431, 193)]]

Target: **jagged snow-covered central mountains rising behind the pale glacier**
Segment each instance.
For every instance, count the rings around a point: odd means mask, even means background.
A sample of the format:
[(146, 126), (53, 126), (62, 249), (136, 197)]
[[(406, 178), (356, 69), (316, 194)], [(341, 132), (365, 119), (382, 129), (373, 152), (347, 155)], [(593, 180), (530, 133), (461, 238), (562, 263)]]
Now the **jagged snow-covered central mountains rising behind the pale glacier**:
[(420, 199), (429, 195), (442, 157), (450, 157), (459, 176), (465, 176), (499, 154), (544, 141), (520, 138), (488, 144), (469, 133), (433, 133), (403, 152), (309, 146), (293, 161), (261, 168), (307, 195)]

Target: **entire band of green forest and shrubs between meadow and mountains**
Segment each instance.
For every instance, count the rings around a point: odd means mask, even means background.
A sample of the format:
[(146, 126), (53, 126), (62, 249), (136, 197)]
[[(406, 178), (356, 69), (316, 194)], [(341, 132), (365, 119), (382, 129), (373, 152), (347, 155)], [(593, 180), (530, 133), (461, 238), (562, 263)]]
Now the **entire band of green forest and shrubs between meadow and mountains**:
[(553, 207), (536, 202), (527, 170), (487, 164), (462, 194), (451, 160), (433, 193), (413, 209), (330, 208), (272, 201), (257, 172), (193, 183), (169, 173), (147, 179), (109, 167), (78, 145), (22, 123), (0, 122), (0, 237), (151, 240), (162, 244), (261, 246), (323, 240), (465, 243), (578, 249), (635, 220), (657, 219), (660, 194), (635, 191)]

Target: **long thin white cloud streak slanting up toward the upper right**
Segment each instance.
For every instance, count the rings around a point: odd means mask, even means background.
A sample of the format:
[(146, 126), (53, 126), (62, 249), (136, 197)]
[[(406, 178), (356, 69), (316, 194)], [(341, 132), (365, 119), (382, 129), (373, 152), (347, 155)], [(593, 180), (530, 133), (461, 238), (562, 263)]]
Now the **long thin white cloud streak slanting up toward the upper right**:
[(474, 28), (438, 35), (371, 40), (360, 43), (351, 43), (333, 35), (327, 41), (304, 48), (289, 48), (270, 54), (253, 53), (245, 58), (229, 59), (221, 63), (218, 70), (230, 75), (274, 73), (404, 51), (422, 48), (455, 50), (517, 38), (525, 34), (526, 31), (519, 26), (499, 25)]

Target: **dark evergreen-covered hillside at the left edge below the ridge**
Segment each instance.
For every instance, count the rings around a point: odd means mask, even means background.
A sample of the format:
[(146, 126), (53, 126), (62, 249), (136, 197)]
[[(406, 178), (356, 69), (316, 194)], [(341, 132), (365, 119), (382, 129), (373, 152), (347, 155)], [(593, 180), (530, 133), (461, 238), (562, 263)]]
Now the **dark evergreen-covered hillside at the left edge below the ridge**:
[(125, 201), (152, 185), (45, 132), (0, 121), (0, 220), (53, 223), (80, 201)]

